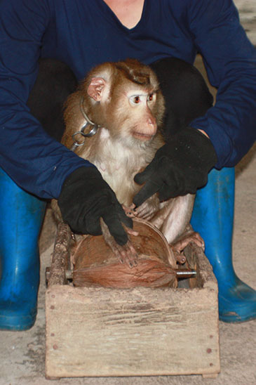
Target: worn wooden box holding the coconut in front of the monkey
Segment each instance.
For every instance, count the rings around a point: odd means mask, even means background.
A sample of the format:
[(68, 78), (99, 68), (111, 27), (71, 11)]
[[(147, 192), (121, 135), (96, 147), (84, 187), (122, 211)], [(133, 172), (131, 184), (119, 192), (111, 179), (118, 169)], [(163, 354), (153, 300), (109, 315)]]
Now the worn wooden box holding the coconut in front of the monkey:
[(189, 289), (73, 287), (62, 231), (46, 290), (46, 378), (216, 377), (217, 281), (201, 249), (189, 247), (197, 270)]

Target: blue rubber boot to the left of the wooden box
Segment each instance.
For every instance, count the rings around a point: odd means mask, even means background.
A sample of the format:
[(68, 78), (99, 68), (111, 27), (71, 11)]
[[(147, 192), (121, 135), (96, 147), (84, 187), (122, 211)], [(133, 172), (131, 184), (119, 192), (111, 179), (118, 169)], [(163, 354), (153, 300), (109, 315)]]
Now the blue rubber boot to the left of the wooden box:
[(0, 169), (0, 329), (26, 330), (36, 320), (45, 207)]

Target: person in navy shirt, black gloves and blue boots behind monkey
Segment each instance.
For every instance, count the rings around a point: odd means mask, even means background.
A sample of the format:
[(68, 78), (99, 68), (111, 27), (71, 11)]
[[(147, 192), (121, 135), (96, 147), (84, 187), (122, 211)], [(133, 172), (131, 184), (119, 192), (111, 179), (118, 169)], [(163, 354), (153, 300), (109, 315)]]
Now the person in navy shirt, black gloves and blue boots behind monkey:
[(0, 29), (0, 328), (28, 329), (36, 319), (36, 243), (44, 200), (58, 199), (62, 215), (83, 233), (100, 233), (102, 216), (125, 244), (121, 223), (130, 226), (97, 169), (48, 136), (29, 112), (39, 58), (66, 63), (80, 80), (105, 61), (137, 58), (151, 64), (176, 57), (194, 63), (201, 53), (218, 89), (216, 103), (177, 133), (173, 162), (167, 143), (138, 174), (146, 183), (135, 202), (156, 190), (178, 195), (200, 189), (192, 224), (205, 238), (217, 277), (220, 319), (256, 318), (255, 291), (237, 278), (231, 261), (234, 166), (254, 143), (256, 122), (256, 53), (234, 3), (1, 0)]

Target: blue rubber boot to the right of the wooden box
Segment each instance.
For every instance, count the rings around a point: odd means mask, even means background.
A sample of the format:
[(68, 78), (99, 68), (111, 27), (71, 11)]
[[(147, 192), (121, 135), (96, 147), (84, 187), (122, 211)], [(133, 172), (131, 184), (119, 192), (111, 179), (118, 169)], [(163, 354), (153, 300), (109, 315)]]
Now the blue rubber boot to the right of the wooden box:
[(206, 187), (198, 190), (191, 225), (206, 242), (219, 287), (219, 316), (224, 322), (256, 318), (256, 291), (242, 282), (232, 264), (234, 168), (213, 169)]

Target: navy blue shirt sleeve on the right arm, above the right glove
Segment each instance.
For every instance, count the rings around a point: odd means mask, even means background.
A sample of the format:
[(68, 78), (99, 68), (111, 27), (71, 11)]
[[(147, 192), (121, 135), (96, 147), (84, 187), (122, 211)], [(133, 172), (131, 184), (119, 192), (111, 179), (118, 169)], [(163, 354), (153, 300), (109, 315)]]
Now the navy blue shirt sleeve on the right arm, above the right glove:
[(203, 56), (215, 105), (191, 126), (205, 131), (217, 152), (217, 169), (233, 167), (256, 137), (256, 51), (231, 0), (191, 0), (189, 28)]

